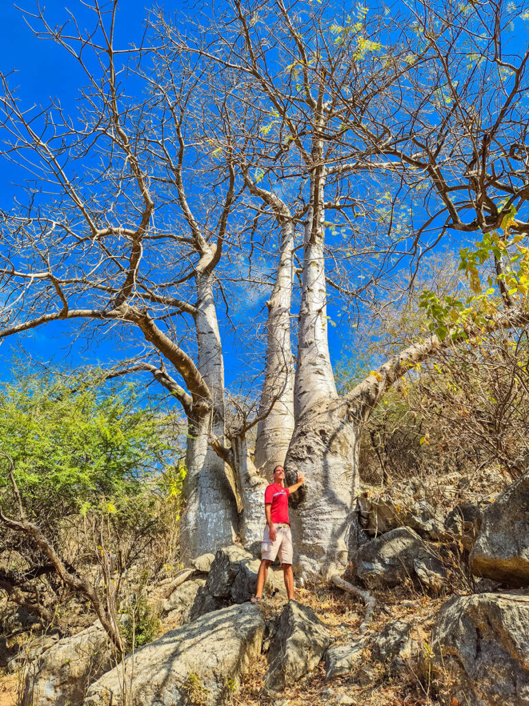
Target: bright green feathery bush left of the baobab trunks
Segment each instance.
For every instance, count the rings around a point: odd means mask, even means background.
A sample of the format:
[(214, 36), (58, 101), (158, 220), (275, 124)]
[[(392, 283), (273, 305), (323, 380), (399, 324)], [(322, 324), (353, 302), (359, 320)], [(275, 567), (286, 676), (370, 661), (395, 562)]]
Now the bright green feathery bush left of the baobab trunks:
[[(147, 477), (171, 462), (169, 420), (134, 384), (25, 376), (0, 391), (0, 451), (13, 458), (30, 517), (130, 512)], [(8, 502), (7, 464), (0, 489)]]

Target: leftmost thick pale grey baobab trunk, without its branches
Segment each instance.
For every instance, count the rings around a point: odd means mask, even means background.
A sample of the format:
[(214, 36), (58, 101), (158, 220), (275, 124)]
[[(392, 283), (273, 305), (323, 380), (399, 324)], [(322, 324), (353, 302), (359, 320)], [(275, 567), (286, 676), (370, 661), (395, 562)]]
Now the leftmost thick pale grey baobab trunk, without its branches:
[(224, 439), (224, 362), (212, 275), (197, 273), (195, 280), (197, 368), (212, 394), (212, 405), (209, 411), (188, 418), (186, 506), (181, 519), (181, 554), (185, 559), (231, 544), (238, 527), (236, 501), (224, 460), (209, 446), (210, 435)]

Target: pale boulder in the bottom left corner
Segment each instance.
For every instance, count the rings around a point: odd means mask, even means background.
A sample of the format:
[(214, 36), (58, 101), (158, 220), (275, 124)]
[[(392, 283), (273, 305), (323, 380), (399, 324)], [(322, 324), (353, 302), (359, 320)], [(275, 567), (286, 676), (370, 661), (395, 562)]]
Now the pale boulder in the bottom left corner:
[(63, 638), (30, 665), (23, 706), (79, 706), (87, 686), (110, 669), (107, 633), (97, 621), (72, 638)]

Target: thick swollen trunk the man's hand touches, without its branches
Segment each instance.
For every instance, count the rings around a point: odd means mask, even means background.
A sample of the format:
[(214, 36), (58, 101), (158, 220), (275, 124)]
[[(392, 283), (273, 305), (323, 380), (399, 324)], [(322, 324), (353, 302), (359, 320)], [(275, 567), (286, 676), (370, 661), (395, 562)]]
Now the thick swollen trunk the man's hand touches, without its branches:
[(347, 561), (346, 539), (358, 492), (359, 431), (338, 399), (329, 357), (323, 204), (324, 172), (319, 167), (312, 177), (305, 228), (296, 429), (286, 456), (286, 474), (291, 484), (299, 472), (305, 473), (305, 485), (292, 503), (297, 505), (293, 515), (298, 562), (305, 571), (332, 574)]

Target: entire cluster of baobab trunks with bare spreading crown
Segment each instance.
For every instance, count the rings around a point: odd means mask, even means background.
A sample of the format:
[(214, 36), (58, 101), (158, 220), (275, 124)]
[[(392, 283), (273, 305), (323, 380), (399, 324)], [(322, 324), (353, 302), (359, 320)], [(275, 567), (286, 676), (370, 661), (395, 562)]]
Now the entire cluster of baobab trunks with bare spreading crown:
[[(8, 304), (0, 336), (75, 318), (119, 325), (147, 341), (159, 359), (128, 369), (150, 371), (188, 417), (188, 556), (230, 542), (241, 508), (251, 527), (246, 539), (253, 538), (265, 482), (258, 471), (286, 452), (288, 476), (303, 470), (307, 479), (296, 509), (300, 563), (323, 572), (343, 566), (354, 546), (360, 431), (384, 392), (440, 348), (527, 319), (525, 251), (518, 265), (512, 258), (528, 232), (520, 107), (526, 56), (506, 54), (512, 10), (444, 10), (441, 18), (420, 5), (413, 13), (403, 8), (401, 18), (369, 17), (305, 0), (288, 8), (281, 0), (233, 0), (200, 33), (154, 16), (163, 25), (150, 54), (155, 70), (138, 69), (148, 95), (126, 110), (99, 14), (103, 48), (95, 41), (92, 48), (104, 82), (89, 76), (87, 128), (73, 143), (68, 122), (57, 132), (56, 119), (44, 125), (44, 138), (41, 117), (28, 118), (4, 81), (13, 154), (37, 155), (60, 196), (51, 210), (30, 201), (22, 215), (4, 217)], [(494, 30), (484, 33), (488, 20)], [(56, 38), (79, 58), (75, 37)], [(472, 61), (468, 47), (485, 59)], [(494, 71), (502, 76), (498, 91), (489, 81)], [(201, 100), (211, 106), (202, 114)], [(67, 176), (78, 145), (95, 138), (107, 141), (111, 155), (97, 187)], [(197, 174), (205, 179), (200, 188), (185, 183), (189, 160), (201, 166), (193, 172), (195, 183)], [(178, 222), (168, 215), (175, 205)], [(269, 258), (275, 277), (260, 409), (226, 430), (215, 285), (233, 229), (245, 229), (245, 210), (251, 218), (274, 217), (279, 248)], [(365, 313), (363, 298), (391, 288), (391, 273), (403, 265), (413, 276), (422, 253), (450, 232), (474, 241), (482, 234), (463, 267), (478, 289), (479, 265), (492, 256), (493, 291), (473, 301), (426, 294), (431, 335), (340, 397), (328, 287), (343, 306)], [(162, 255), (163, 244), (169, 254)], [(237, 247), (251, 257), (244, 239)], [(167, 267), (176, 275), (166, 275)], [(300, 275), (294, 289), (293, 269)], [(365, 280), (352, 285), (360, 273)], [(246, 432), (255, 423), (254, 460)]]

